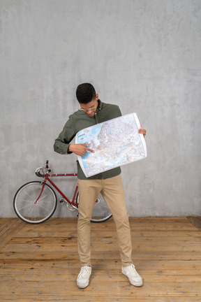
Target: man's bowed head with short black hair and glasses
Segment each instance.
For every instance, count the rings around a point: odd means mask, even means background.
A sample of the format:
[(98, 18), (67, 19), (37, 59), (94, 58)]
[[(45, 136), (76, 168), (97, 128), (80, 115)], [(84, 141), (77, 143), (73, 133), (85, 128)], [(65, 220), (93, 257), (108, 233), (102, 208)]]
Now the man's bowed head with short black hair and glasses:
[(78, 85), (76, 96), (81, 110), (89, 117), (93, 117), (98, 107), (98, 94), (96, 94), (94, 86), (89, 83)]

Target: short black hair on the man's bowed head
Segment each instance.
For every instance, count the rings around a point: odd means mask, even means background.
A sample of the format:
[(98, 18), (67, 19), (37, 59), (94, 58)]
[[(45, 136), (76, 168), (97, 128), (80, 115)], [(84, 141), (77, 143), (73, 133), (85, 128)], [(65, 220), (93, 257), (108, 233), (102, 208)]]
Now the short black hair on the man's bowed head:
[(90, 103), (96, 98), (94, 86), (90, 83), (83, 83), (77, 86), (76, 97), (79, 103)]

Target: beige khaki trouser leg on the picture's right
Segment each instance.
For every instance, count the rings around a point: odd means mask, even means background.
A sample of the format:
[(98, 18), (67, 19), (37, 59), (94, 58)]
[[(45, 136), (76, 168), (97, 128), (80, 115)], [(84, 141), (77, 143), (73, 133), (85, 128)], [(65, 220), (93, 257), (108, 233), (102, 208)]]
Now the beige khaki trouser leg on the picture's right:
[(107, 206), (110, 208), (117, 227), (117, 240), (121, 263), (123, 266), (129, 266), (132, 263), (131, 229), (121, 175), (103, 180), (101, 194), (103, 195)]

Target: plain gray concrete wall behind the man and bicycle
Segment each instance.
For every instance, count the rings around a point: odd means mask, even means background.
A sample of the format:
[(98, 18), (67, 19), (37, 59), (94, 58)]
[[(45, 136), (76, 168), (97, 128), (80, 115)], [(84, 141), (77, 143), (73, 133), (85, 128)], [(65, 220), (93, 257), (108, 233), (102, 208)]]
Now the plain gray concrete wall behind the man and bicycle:
[[(147, 129), (147, 159), (122, 168), (129, 215), (201, 215), (200, 5), (0, 0), (1, 217), (15, 217), (15, 191), (45, 159), (55, 173), (76, 171), (76, 156), (53, 144), (80, 82)], [(75, 183), (60, 181), (67, 194)]]

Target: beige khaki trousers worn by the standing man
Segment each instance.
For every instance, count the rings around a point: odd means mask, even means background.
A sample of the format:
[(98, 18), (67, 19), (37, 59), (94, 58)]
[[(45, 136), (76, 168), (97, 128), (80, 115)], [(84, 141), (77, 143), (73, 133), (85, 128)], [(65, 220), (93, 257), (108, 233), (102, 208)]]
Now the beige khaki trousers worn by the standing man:
[[(91, 227), (90, 219), (94, 203), (101, 192), (113, 215), (117, 228), (117, 240), (123, 266), (132, 263), (131, 230), (128, 221), (124, 187), (121, 175), (105, 180), (79, 180), (79, 219), (77, 222), (77, 241), (80, 263), (91, 265)], [(109, 247), (110, 248), (110, 247)]]

